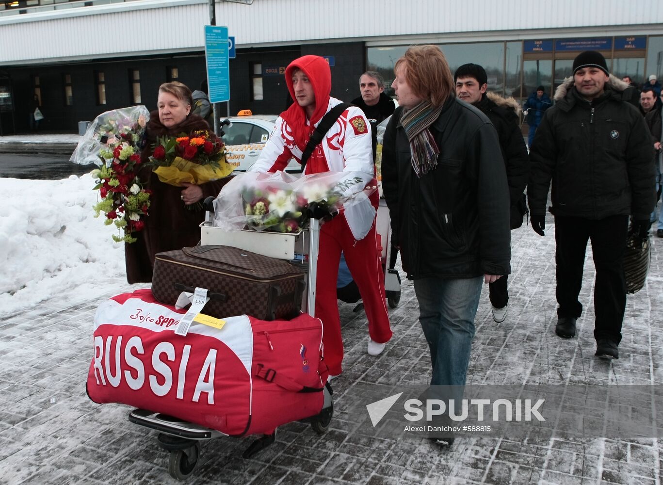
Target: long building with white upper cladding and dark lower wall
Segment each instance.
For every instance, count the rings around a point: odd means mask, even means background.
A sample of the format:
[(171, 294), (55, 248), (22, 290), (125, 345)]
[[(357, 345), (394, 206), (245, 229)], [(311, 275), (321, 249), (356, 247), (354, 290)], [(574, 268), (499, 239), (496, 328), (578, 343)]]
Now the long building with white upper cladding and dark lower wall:
[[(353, 99), (365, 70), (381, 72), (390, 85), (394, 62), (413, 44), (439, 45), (452, 70), (481, 64), (489, 89), (520, 101), (538, 85), (554, 91), (587, 49), (603, 52), (619, 77), (663, 78), (659, 2), (473, 5), (475, 11), (448, 0), (217, 1), (216, 23), (235, 36), (237, 52), (221, 113), (280, 113), (288, 99), (282, 72), (305, 54), (328, 58), (332, 95)], [(160, 83), (198, 89), (209, 23), (208, 0), (1, 0), (0, 130), (28, 131), (35, 95), (41, 129), (75, 132), (78, 121), (109, 109), (154, 109)]]

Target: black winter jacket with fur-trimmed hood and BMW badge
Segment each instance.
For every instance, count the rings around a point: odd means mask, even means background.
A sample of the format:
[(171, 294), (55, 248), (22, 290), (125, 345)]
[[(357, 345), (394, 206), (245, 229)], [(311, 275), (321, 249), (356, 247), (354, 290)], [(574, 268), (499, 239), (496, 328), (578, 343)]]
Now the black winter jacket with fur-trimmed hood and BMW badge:
[(638, 110), (610, 75), (605, 93), (587, 101), (566, 78), (536, 131), (527, 188), (532, 215), (546, 213), (552, 179), (554, 215), (649, 219), (654, 208), (654, 148)]

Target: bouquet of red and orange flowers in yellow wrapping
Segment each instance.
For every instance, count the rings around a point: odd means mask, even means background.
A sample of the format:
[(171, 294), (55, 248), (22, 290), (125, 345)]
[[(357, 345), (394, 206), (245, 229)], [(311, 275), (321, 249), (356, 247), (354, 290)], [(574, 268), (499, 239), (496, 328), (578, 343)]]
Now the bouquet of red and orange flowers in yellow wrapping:
[(206, 130), (157, 138), (150, 164), (161, 182), (176, 187), (182, 182), (204, 184), (233, 171), (225, 162), (221, 138)]

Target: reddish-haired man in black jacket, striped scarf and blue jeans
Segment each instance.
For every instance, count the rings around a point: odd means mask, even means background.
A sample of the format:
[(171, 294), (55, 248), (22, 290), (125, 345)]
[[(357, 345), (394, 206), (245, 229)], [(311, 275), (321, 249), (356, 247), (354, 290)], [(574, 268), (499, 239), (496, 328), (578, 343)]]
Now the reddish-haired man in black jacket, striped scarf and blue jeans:
[(482, 283), (511, 272), (507, 175), (495, 127), (456, 99), (437, 46), (409, 48), (394, 73), (399, 107), (385, 131), (383, 192), (403, 270), (414, 280), (430, 384), (454, 386), (458, 404)]

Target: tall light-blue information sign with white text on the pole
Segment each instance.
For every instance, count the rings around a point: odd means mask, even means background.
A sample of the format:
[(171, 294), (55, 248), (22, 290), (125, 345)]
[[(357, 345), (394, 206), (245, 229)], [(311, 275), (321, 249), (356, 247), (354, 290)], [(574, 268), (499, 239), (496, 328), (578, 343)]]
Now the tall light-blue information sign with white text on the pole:
[(208, 71), (210, 103), (230, 101), (227, 27), (205, 26), (205, 61)]

